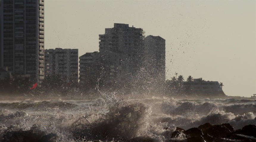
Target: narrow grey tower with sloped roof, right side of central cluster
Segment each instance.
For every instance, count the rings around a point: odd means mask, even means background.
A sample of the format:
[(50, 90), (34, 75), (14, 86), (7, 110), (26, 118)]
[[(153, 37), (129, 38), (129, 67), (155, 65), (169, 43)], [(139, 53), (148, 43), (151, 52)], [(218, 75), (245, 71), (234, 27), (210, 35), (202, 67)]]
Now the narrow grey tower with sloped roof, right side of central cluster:
[(144, 40), (146, 77), (155, 83), (165, 81), (165, 39), (149, 35)]

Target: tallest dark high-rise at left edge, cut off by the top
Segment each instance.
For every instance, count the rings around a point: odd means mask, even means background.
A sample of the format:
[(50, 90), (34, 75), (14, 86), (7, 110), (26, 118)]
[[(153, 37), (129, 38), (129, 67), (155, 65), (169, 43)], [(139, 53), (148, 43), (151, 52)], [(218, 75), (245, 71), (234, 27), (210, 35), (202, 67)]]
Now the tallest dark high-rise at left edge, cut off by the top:
[(44, 78), (44, 1), (0, 0), (0, 66), (32, 82)]

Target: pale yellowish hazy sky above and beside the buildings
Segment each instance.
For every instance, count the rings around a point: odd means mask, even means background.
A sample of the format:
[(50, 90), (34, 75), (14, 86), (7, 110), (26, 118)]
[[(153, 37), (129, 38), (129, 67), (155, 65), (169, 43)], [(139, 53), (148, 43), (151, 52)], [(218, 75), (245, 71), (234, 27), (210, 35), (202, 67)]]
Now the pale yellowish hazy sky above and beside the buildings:
[(223, 82), (228, 96), (256, 93), (256, 1), (45, 0), (45, 49), (99, 51), (114, 23), (166, 40), (166, 79), (177, 72)]

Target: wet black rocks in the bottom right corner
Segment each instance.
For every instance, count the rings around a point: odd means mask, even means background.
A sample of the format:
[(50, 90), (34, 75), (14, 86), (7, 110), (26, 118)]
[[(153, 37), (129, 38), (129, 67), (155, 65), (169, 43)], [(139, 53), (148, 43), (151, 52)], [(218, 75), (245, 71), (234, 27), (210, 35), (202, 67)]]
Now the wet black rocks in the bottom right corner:
[[(168, 131), (168, 128), (164, 128)], [(197, 128), (184, 130), (177, 127), (171, 134), (173, 142), (187, 139), (187, 142), (256, 142), (256, 126), (246, 125), (242, 129), (234, 130), (229, 123), (211, 125), (205, 123)]]

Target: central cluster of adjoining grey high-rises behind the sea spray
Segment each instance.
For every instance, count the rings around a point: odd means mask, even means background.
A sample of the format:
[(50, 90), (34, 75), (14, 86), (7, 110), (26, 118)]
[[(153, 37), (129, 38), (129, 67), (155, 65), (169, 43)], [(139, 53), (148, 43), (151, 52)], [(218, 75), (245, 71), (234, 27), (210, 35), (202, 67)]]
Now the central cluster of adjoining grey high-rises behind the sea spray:
[(105, 28), (105, 33), (99, 34), (99, 40), (99, 52), (79, 57), (81, 85), (88, 90), (98, 86), (108, 91), (133, 90), (140, 85), (154, 90), (163, 88), (165, 39), (145, 37), (142, 28), (114, 23), (113, 28)]

